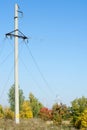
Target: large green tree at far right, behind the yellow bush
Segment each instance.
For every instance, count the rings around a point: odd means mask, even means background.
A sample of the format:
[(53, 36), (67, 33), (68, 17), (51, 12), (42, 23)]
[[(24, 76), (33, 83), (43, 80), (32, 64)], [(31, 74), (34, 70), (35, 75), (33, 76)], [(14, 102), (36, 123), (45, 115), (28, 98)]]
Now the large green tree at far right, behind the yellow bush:
[(78, 121), (78, 118), (81, 116), (85, 109), (87, 109), (87, 98), (84, 96), (81, 98), (76, 98), (71, 102), (70, 111), (72, 116), (72, 123), (74, 126), (76, 126), (76, 122), (80, 124), (80, 120)]

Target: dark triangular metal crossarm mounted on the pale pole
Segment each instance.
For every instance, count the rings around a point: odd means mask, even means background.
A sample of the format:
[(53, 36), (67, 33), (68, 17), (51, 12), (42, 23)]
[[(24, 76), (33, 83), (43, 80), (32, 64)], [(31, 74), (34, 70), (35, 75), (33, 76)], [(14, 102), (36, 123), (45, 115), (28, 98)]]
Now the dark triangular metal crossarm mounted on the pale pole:
[[(15, 35), (15, 32), (18, 31), (18, 35)], [(23, 40), (28, 40), (28, 37), (26, 37), (19, 29), (16, 29), (12, 32), (9, 32), (9, 33), (6, 33), (5, 34), (6, 37), (10, 36), (10, 37), (18, 37), (18, 38), (21, 38)]]

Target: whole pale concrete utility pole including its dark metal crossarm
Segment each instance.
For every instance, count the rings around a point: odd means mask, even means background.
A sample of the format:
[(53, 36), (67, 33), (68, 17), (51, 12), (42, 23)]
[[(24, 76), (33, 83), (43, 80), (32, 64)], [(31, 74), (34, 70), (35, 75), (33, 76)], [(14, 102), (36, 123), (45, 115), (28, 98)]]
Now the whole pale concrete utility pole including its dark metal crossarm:
[(23, 40), (28, 39), (21, 31), (18, 29), (18, 5), (15, 4), (15, 16), (14, 16), (14, 31), (9, 32), (6, 37), (14, 37), (14, 85), (15, 85), (15, 122), (19, 124), (19, 83), (18, 83), (18, 38)]

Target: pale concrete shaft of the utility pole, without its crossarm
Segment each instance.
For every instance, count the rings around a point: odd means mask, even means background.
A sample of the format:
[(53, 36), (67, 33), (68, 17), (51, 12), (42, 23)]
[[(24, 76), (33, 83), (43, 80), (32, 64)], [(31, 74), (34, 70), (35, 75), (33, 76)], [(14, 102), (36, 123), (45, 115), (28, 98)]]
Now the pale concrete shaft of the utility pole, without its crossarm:
[[(18, 30), (18, 5), (15, 4), (14, 30)], [(15, 31), (18, 36), (18, 31)], [(19, 124), (19, 88), (18, 88), (18, 37), (14, 37), (14, 84), (15, 84), (15, 122)]]

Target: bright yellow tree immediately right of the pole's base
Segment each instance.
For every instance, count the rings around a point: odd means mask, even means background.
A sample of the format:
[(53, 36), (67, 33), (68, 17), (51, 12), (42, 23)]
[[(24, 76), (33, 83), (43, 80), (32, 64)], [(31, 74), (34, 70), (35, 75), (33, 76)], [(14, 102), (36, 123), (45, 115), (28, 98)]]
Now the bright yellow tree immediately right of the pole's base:
[(29, 101), (24, 101), (20, 111), (20, 117), (23, 119), (28, 119), (33, 117), (33, 113), (30, 107)]

